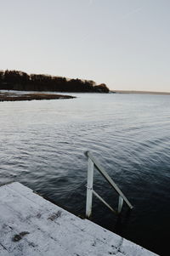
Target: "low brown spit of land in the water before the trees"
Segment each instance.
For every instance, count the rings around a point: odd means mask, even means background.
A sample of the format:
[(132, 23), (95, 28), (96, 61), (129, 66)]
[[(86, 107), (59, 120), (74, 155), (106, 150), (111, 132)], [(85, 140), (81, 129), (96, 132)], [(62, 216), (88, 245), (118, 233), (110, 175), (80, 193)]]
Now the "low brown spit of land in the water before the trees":
[(0, 93), (0, 101), (19, 101), (19, 100), (59, 100), (74, 99), (76, 97), (61, 94), (10, 94)]

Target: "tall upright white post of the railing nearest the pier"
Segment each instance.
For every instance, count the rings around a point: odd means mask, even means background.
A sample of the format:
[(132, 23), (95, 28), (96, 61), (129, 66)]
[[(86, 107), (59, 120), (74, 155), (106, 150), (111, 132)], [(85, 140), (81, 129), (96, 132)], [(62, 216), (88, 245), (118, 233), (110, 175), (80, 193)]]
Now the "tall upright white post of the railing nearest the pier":
[(87, 199), (86, 199), (86, 216), (88, 218), (92, 213), (93, 185), (94, 185), (94, 162), (92, 162), (90, 157), (88, 157), (88, 185), (87, 185)]

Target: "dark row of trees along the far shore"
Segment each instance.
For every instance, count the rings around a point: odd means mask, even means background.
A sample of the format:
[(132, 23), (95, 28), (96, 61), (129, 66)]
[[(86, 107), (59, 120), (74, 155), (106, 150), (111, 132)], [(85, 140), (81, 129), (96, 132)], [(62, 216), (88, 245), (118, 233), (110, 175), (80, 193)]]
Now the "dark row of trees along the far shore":
[(97, 92), (109, 93), (105, 83), (96, 85), (94, 81), (67, 79), (42, 74), (28, 75), (23, 71), (0, 71), (0, 89), (21, 91), (55, 92)]

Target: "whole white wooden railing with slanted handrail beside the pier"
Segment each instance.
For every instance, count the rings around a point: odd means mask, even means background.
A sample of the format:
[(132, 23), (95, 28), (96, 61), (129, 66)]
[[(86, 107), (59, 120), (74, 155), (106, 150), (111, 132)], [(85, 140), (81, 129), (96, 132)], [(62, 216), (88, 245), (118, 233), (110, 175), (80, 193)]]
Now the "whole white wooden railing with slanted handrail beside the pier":
[[(89, 218), (92, 213), (92, 199), (94, 196), (98, 197), (101, 202), (105, 204), (106, 207), (110, 208), (113, 213), (121, 213), (123, 202), (127, 203), (127, 206), (132, 209), (132, 204), (127, 200), (127, 197), (123, 195), (122, 191), (118, 188), (116, 183), (111, 179), (111, 177), (105, 172), (105, 169), (100, 165), (97, 159), (94, 158), (91, 152), (85, 152), (88, 157), (88, 185), (87, 185), (87, 201), (86, 201), (86, 216)], [(107, 182), (112, 186), (112, 188), (118, 193), (119, 201), (117, 211), (111, 208), (111, 206), (105, 202), (105, 200), (99, 196), (96, 191), (94, 191), (94, 167), (97, 168), (100, 174), (107, 180)]]

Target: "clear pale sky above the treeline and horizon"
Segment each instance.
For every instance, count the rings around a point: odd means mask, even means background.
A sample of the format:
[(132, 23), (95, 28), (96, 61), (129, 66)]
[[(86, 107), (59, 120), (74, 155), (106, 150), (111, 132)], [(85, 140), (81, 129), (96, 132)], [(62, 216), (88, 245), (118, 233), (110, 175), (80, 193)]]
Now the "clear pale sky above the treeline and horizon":
[(170, 92), (169, 0), (0, 0), (0, 69)]

